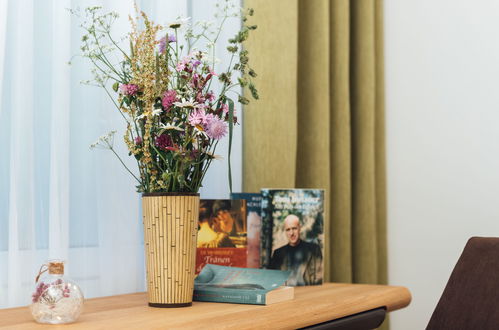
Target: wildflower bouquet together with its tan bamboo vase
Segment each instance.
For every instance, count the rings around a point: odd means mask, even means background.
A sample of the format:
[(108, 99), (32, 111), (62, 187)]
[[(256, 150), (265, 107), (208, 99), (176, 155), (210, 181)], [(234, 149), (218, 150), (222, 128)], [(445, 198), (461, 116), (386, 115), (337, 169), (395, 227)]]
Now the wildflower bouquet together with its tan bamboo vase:
[[(229, 1), (218, 7), (214, 29), (208, 23), (191, 26), (180, 19), (163, 27), (137, 10), (137, 17), (130, 18), (132, 31), (122, 40), (111, 33), (117, 14), (102, 14), (98, 7), (85, 10), (81, 50), (93, 63), (93, 83), (105, 90), (125, 120), (124, 140), (137, 161), (138, 174), (114, 150), (115, 132), (102, 136), (93, 147), (113, 151), (142, 193), (147, 286), (153, 307), (192, 304), (197, 192), (217, 158), (217, 144), (227, 135), (232, 190), (230, 152), (238, 120), (228, 93), (234, 92), (242, 104), (249, 100), (237, 92), (241, 87), (258, 98), (256, 73), (242, 47), (256, 28), (247, 24), (253, 11), (241, 11)], [(217, 71), (215, 45), (230, 17), (240, 17), (243, 24), (228, 41), (231, 58), (226, 69)], [(126, 39), (128, 52), (123, 47)], [(197, 48), (203, 42), (205, 48)]]

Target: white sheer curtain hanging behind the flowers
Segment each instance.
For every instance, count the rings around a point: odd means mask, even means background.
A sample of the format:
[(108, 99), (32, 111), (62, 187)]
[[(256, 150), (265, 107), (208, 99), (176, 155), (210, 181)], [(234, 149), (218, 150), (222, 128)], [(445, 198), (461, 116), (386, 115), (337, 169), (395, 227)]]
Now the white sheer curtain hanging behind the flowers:
[[(211, 19), (215, 0), (137, 1), (154, 21), (178, 15)], [(239, 3), (237, 3), (239, 4)], [(0, 0), (0, 308), (30, 302), (34, 276), (47, 259), (67, 260), (66, 273), (86, 297), (143, 291), (140, 196), (114, 156), (89, 150), (124, 124), (78, 53), (81, 30), (66, 8), (102, 5), (129, 30), (133, 1)], [(217, 49), (238, 29), (228, 22)], [(226, 58), (219, 52), (221, 62)], [(238, 109), (238, 111), (240, 111)], [(226, 155), (225, 144), (218, 153)], [(234, 190), (241, 188), (241, 130), (233, 146)], [(133, 168), (131, 159), (127, 159)], [(227, 164), (207, 175), (204, 198), (228, 197)]]

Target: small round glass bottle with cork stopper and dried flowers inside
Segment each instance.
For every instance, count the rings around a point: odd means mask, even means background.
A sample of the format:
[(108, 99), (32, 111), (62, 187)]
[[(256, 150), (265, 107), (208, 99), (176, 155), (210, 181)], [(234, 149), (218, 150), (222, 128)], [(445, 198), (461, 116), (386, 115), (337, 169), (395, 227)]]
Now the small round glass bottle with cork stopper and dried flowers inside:
[(43, 265), (35, 282), (30, 310), (36, 322), (63, 324), (76, 321), (83, 309), (83, 293), (75, 282), (64, 276), (63, 261), (52, 260)]

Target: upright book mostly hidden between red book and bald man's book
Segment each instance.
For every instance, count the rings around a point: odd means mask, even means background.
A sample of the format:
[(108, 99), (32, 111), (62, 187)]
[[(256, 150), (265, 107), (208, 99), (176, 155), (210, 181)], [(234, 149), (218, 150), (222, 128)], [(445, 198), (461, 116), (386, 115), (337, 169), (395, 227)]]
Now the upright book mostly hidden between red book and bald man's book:
[(262, 230), (262, 195), (258, 193), (232, 193), (232, 199), (246, 200), (248, 240), (248, 268), (260, 268), (260, 233)]

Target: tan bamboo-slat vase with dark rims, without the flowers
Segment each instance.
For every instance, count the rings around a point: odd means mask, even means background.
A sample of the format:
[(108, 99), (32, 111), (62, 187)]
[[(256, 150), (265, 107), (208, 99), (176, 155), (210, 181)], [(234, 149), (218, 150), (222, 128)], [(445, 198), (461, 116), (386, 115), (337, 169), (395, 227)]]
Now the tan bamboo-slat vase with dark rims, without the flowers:
[(142, 214), (149, 306), (191, 306), (199, 194), (144, 193)]

